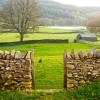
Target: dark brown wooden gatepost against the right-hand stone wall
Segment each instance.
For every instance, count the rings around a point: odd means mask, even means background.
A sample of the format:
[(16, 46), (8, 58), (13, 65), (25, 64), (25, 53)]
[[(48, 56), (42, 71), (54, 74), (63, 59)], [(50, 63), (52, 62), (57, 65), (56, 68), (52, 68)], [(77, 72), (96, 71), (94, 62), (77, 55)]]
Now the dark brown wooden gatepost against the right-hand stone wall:
[(67, 90), (67, 52), (64, 50), (64, 89)]

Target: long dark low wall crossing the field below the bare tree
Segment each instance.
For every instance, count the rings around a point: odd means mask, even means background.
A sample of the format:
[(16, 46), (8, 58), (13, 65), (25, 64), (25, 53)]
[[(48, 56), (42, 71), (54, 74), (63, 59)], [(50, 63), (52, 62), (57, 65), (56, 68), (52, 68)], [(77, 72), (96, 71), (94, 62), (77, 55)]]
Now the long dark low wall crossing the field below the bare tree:
[(43, 40), (28, 40), (23, 42), (2, 42), (0, 46), (15, 46), (15, 45), (23, 45), (23, 44), (36, 44), (36, 43), (68, 43), (68, 39), (43, 39)]

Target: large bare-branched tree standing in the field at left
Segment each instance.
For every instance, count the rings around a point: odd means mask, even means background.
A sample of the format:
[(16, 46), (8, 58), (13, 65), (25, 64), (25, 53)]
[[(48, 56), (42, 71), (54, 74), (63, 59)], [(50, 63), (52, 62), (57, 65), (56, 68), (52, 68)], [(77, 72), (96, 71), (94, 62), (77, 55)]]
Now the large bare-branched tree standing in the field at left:
[(23, 41), (30, 25), (38, 20), (38, 0), (8, 0), (1, 16), (4, 23), (16, 29)]

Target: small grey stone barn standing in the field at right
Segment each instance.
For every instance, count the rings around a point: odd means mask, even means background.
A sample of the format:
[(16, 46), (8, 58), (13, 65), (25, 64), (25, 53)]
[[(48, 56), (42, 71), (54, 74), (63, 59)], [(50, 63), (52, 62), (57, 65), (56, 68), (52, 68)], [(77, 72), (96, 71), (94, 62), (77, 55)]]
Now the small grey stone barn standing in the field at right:
[(85, 34), (85, 33), (80, 33), (77, 35), (77, 41), (90, 41), (90, 42), (96, 42), (97, 41), (97, 36), (96, 34)]

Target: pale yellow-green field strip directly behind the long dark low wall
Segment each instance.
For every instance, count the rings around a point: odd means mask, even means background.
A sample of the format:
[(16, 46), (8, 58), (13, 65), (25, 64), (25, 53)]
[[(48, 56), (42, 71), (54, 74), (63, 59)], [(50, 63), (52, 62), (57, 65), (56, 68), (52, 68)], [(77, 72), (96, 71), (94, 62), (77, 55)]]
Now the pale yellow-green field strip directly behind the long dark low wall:
[[(24, 36), (24, 40), (42, 40), (42, 39), (69, 39), (72, 42), (76, 38), (77, 34), (43, 34), (43, 33), (34, 33), (34, 34), (26, 34)], [(7, 33), (0, 34), (0, 42), (15, 42), (19, 41), (18, 33)]]

